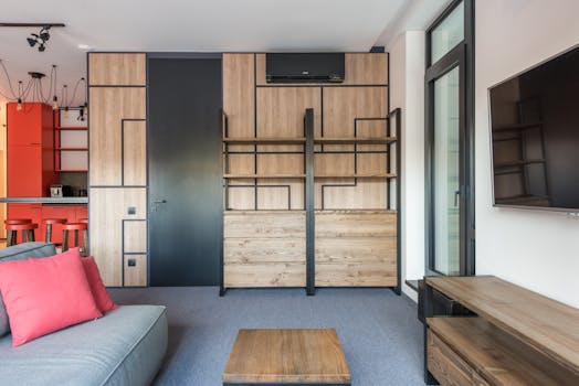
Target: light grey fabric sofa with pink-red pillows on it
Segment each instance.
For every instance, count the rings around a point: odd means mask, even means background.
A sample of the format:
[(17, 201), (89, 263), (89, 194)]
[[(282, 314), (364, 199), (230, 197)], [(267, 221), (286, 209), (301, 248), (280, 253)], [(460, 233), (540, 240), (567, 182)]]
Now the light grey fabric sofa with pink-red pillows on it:
[[(0, 264), (54, 253), (51, 244), (20, 244), (1, 249)], [(148, 385), (166, 351), (165, 307), (122, 305), (20, 347), (1, 336), (0, 385)]]

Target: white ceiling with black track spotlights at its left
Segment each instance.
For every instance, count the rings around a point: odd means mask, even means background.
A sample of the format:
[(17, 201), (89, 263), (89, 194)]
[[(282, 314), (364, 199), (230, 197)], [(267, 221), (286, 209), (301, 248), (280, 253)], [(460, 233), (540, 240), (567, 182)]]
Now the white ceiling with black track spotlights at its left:
[[(0, 60), (13, 85), (29, 71), (73, 88), (86, 51), (358, 51), (387, 44), (408, 25), (424, 28), (446, 0), (2, 0), (1, 22), (63, 22), (44, 53), (33, 28), (0, 28)], [(411, 14), (410, 14), (411, 13)], [(83, 45), (80, 47), (80, 45)], [(48, 82), (46, 89), (48, 89)], [(0, 92), (8, 90), (0, 73)], [(72, 94), (72, 93), (71, 93)], [(82, 94), (82, 93), (81, 93)], [(60, 95), (59, 95), (60, 96)], [(71, 105), (84, 101), (77, 96)]]

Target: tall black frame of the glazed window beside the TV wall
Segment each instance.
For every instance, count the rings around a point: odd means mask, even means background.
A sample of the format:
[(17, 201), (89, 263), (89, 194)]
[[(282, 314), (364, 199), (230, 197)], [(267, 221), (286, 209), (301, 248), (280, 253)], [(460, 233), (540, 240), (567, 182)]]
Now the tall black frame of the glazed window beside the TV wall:
[[(461, 3), (464, 3), (464, 40), (431, 63), (432, 31)], [(459, 67), (460, 71), (460, 275), (475, 272), (474, 223), (474, 0), (454, 0), (427, 31), (425, 72), (425, 274), (434, 269), (434, 82)]]

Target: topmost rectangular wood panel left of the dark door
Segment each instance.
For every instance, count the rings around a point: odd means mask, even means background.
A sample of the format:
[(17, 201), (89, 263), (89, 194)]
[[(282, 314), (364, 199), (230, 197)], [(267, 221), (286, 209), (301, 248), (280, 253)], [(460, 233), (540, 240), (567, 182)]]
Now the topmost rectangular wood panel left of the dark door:
[(90, 86), (145, 86), (146, 84), (146, 54), (88, 53)]

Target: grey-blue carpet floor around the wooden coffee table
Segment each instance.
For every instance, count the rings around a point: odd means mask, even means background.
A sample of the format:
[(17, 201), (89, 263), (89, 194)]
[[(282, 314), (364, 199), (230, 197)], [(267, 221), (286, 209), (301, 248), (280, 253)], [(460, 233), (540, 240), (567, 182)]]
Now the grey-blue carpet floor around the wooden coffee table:
[(167, 305), (169, 349), (155, 385), (221, 385), (239, 329), (335, 328), (352, 385), (424, 385), (417, 305), (389, 289), (112, 289), (119, 304)]

